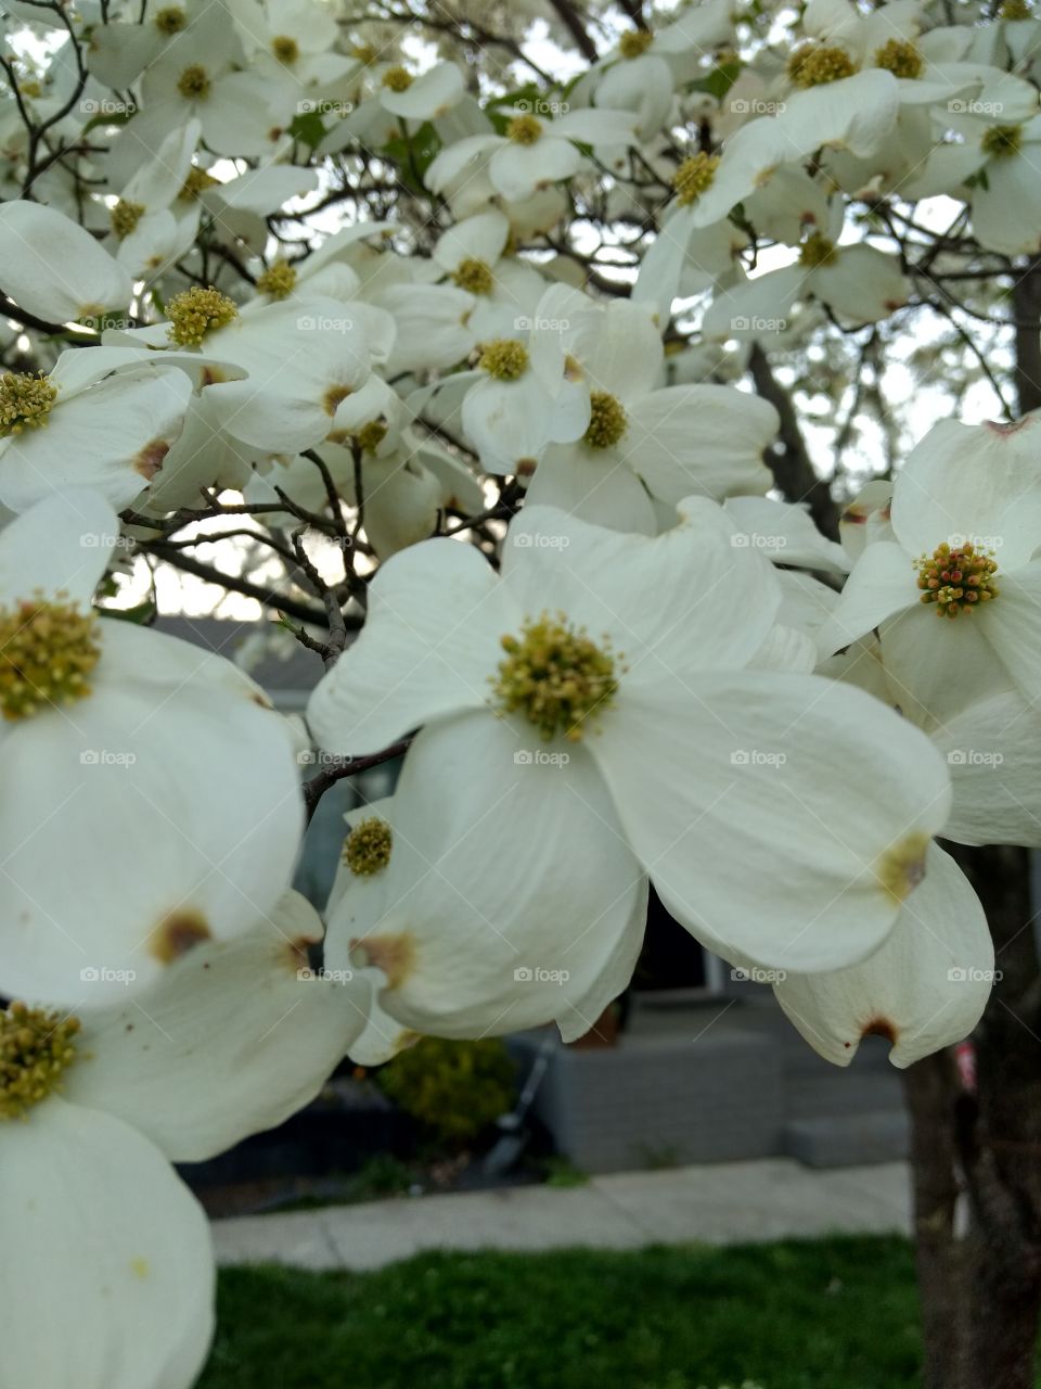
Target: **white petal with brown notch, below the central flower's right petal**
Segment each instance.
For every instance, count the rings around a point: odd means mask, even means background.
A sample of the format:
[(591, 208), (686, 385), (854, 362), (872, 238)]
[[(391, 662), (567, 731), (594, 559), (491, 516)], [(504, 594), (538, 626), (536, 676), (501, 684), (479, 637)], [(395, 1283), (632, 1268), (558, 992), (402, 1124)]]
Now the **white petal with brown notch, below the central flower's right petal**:
[(994, 945), (983, 907), (954, 858), (933, 845), (922, 886), (869, 960), (830, 974), (788, 975), (773, 992), (827, 1061), (848, 1065), (862, 1038), (879, 1033), (892, 1043), (892, 1064), (906, 1067), (967, 1036), (992, 981)]

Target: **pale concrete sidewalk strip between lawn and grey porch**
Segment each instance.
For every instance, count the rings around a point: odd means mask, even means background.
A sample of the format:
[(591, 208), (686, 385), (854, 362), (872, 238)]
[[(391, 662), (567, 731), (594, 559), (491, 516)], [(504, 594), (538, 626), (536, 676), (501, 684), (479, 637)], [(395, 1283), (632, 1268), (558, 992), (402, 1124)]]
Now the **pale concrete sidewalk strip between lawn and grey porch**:
[(909, 1233), (904, 1163), (813, 1171), (791, 1158), (328, 1206), (214, 1221), (221, 1264), (380, 1268), (430, 1249), (640, 1249), (830, 1233)]

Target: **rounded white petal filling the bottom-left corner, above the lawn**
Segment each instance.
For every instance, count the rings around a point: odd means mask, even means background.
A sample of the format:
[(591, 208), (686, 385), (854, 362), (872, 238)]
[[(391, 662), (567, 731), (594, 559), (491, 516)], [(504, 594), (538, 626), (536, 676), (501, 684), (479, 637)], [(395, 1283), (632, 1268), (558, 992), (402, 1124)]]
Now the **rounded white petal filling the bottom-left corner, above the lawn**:
[(1, 1136), (6, 1382), (189, 1389), (212, 1335), (214, 1261), (187, 1188), (140, 1133), (60, 1099)]

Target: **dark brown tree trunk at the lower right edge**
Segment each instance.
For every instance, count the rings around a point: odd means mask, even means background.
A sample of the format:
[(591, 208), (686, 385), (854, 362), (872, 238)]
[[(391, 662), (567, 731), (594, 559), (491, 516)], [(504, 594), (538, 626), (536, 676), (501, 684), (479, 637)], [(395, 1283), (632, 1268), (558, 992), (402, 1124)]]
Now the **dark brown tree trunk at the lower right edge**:
[[(926, 1389), (1034, 1389), (1041, 1317), (1041, 979), (1023, 849), (955, 849), (994, 936), (976, 1089), (952, 1053), (906, 1074)], [(963, 1190), (969, 1233), (959, 1239)]]

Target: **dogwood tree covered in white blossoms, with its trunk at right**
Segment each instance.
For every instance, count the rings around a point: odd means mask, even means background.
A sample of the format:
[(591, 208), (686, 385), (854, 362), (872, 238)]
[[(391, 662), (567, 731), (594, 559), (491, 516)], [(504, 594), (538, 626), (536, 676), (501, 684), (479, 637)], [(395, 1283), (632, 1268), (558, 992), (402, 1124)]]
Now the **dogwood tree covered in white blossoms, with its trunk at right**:
[[(1030, 4), (0, 13), (0, 1382), (193, 1383), (169, 1161), (582, 1035), (654, 885), (888, 1039), (927, 1383), (1033, 1385)], [(314, 653), (305, 728), (178, 581)], [(322, 922), (305, 817), (403, 756)]]

